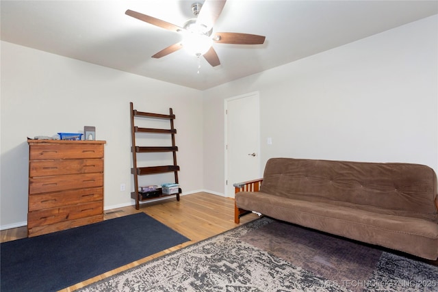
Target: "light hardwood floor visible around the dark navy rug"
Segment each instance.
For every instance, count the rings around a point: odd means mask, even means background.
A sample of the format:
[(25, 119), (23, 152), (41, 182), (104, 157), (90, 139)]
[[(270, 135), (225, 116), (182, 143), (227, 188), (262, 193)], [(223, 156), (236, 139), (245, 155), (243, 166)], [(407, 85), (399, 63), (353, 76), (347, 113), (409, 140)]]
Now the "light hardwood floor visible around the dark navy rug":
[[(141, 204), (140, 210), (136, 210), (136, 208), (133, 206), (107, 210), (105, 211), (103, 217), (104, 220), (108, 220), (115, 217), (122, 217), (140, 212), (144, 212), (151, 217), (154, 217), (159, 222), (166, 224), (170, 228), (178, 231), (191, 240), (167, 250), (163, 250), (162, 252), (158, 252), (157, 254), (142, 258), (138, 261), (130, 263), (129, 265), (118, 267), (117, 269), (108, 271), (100, 276), (77, 283), (71, 287), (62, 289), (61, 291), (75, 291), (76, 289), (84, 287), (88, 284), (120, 273), (120, 271), (125, 271), (126, 269), (135, 267), (136, 265), (140, 265), (146, 261), (151, 261), (153, 258), (163, 256), (169, 252), (179, 250), (180, 248), (184, 248), (185, 246), (191, 245), (203, 239), (223, 233), (224, 231), (235, 228), (241, 224), (255, 220), (258, 217), (255, 214), (249, 214), (241, 218), (240, 224), (235, 224), (234, 200), (204, 192), (181, 196), (181, 200), (179, 202), (175, 198), (158, 202), (148, 202), (146, 204)], [(1, 242), (24, 237), (27, 237), (26, 227), (0, 231)]]

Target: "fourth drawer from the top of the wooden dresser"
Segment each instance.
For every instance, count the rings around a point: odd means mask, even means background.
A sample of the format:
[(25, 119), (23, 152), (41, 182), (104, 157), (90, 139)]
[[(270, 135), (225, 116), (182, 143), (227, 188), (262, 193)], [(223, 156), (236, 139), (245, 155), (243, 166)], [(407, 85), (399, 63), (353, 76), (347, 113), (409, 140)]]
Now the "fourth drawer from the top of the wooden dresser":
[(29, 196), (29, 212), (99, 200), (103, 200), (103, 187), (33, 194)]

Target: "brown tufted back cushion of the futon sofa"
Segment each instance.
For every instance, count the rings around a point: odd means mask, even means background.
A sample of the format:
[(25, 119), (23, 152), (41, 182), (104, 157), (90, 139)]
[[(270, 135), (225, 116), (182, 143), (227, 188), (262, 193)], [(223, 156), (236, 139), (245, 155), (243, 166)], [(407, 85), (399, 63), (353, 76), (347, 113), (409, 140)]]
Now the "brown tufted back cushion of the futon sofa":
[(437, 175), (420, 164), (272, 158), (260, 191), (437, 217)]

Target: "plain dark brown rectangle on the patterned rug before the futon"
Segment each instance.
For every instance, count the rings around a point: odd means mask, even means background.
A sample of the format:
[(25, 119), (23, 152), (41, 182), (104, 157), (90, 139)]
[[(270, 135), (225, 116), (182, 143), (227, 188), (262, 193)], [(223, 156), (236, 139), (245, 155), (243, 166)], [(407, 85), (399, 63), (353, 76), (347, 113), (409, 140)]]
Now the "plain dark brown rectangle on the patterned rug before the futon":
[[(241, 237), (261, 250), (348, 286), (370, 278), (382, 251), (284, 222), (272, 222)], [(361, 287), (349, 287), (361, 291)]]

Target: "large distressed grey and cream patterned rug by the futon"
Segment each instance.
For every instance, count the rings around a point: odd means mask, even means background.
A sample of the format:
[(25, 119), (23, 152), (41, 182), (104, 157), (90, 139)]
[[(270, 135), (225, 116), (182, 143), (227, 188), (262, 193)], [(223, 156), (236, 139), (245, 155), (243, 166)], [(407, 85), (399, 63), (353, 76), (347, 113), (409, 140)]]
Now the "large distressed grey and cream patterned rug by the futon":
[(81, 291), (438, 291), (438, 267), (262, 217)]

